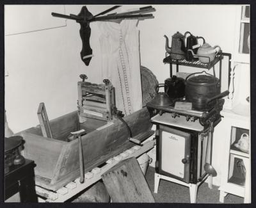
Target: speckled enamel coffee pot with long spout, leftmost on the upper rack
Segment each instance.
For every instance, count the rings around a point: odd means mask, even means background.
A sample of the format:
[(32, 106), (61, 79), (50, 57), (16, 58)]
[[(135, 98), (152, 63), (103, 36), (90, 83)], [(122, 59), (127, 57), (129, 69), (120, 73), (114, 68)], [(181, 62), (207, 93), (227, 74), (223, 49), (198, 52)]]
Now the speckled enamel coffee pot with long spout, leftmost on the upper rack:
[(184, 35), (182, 33), (175, 33), (172, 36), (172, 47), (169, 47), (169, 38), (164, 35), (164, 38), (166, 38), (165, 42), (165, 50), (166, 52), (170, 53), (170, 56), (173, 60), (182, 60), (185, 58), (185, 52), (182, 51), (182, 41), (184, 38)]

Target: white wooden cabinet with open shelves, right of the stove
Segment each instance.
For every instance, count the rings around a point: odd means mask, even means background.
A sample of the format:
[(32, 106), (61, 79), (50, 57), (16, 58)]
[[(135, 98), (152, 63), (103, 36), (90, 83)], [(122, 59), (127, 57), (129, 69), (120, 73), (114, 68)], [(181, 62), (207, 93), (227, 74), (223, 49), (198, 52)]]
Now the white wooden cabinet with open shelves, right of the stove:
[[(244, 203), (250, 203), (250, 152), (243, 152), (234, 144), (244, 132), (250, 135), (250, 119), (228, 116), (223, 111), (223, 122), (227, 128), (227, 134), (223, 135), (224, 156), (223, 170), (221, 171), (220, 202), (224, 202), (228, 193), (241, 196)], [(250, 150), (250, 148), (249, 148)], [(242, 162), (243, 161), (243, 162)], [(242, 166), (241, 166), (242, 164)]]

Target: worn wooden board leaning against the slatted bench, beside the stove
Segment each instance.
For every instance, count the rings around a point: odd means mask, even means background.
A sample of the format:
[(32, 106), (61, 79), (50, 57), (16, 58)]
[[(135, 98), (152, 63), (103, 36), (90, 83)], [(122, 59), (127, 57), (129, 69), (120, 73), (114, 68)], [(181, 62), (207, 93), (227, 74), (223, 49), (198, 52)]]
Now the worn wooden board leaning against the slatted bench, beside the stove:
[(135, 157), (116, 164), (102, 180), (113, 202), (155, 202)]

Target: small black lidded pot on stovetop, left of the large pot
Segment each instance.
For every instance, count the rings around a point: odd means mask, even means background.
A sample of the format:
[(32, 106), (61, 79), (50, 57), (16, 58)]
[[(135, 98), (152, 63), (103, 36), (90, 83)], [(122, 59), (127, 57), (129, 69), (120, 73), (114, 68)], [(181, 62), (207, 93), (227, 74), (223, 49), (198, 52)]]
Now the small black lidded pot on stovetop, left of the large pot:
[(166, 92), (171, 99), (178, 99), (178, 98), (184, 97), (185, 80), (175, 75), (173, 75), (168, 79), (165, 79), (164, 92)]

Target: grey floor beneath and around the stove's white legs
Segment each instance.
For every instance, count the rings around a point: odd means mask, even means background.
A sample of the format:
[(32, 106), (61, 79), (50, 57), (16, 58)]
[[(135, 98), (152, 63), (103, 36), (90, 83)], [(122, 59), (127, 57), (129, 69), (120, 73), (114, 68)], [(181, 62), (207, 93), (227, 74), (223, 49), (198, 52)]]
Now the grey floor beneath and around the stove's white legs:
[[(154, 168), (148, 167), (146, 173), (146, 180), (148, 186), (158, 203), (190, 203), (189, 188), (180, 184), (175, 184), (167, 180), (160, 180), (158, 193), (154, 193)], [(217, 186), (212, 189), (208, 188), (207, 183), (201, 184), (198, 188), (196, 203), (204, 204), (220, 204), (220, 191)], [(242, 204), (243, 198), (235, 195), (227, 195), (225, 197), (225, 204)]]

